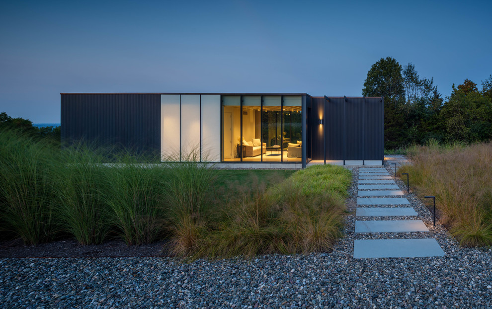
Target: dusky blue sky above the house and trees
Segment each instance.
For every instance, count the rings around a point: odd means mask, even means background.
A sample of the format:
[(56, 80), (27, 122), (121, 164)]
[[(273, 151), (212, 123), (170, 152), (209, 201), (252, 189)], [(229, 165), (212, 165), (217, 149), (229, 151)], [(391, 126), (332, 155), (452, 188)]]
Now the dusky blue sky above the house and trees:
[(0, 111), (60, 121), (60, 92), (361, 95), (391, 56), (492, 74), (492, 1), (3, 1)]

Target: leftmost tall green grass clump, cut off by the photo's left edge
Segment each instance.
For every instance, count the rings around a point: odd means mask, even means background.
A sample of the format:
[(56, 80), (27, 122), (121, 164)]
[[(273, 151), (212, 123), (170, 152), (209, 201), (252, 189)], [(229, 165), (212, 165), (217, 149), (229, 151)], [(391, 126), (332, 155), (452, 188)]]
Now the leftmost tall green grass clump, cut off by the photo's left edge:
[(47, 141), (0, 132), (0, 208), (3, 230), (26, 244), (53, 239), (53, 166), (59, 160)]

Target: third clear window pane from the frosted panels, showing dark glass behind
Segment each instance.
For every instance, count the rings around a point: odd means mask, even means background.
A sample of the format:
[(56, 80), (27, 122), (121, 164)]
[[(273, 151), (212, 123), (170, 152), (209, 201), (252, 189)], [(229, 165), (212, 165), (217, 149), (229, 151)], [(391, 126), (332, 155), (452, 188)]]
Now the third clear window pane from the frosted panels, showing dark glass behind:
[(264, 96), (261, 114), (262, 136), (265, 144), (263, 161), (280, 161), (282, 151), (281, 96)]

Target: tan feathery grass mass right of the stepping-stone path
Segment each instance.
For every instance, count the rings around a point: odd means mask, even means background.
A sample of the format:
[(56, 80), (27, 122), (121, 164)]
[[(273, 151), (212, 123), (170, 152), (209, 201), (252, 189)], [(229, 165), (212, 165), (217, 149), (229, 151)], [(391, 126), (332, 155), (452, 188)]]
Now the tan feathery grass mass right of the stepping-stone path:
[(492, 143), (414, 147), (410, 184), (435, 195), (441, 222), (462, 245), (492, 245)]

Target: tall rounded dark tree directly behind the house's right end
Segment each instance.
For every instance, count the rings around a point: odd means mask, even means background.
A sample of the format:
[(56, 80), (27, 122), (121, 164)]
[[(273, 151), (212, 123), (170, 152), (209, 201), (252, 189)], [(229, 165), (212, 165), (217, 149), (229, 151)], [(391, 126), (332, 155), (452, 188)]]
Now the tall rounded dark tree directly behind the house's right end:
[(371, 66), (362, 89), (365, 96), (384, 96), (384, 139), (386, 148), (405, 144), (407, 130), (401, 110), (405, 100), (402, 66), (391, 57)]

